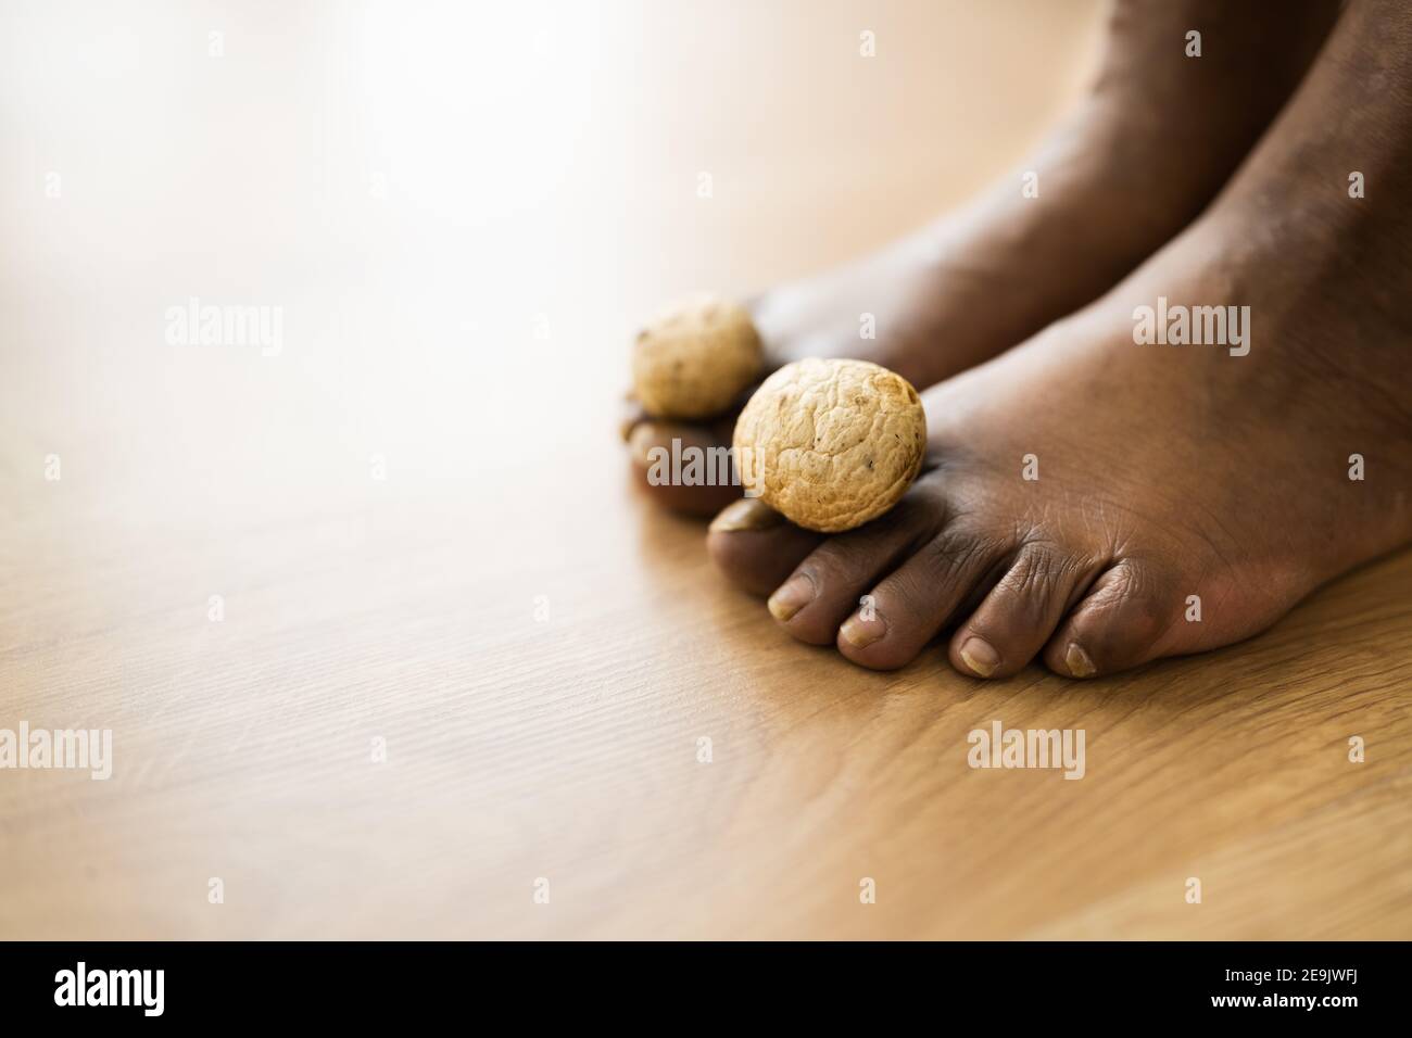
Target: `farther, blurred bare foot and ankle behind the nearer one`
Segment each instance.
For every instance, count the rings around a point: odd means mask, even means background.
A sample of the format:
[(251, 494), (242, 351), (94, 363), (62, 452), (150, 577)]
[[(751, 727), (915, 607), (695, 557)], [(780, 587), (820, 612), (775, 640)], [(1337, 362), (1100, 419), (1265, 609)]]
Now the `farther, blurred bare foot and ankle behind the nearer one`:
[[(847, 356), (926, 387), (1089, 302), (1216, 193), (1299, 80), (1336, 7), (1310, 0), (1272, 24), (1213, 0), (1123, 0), (1093, 90), (1021, 167), (1036, 174), (1038, 195), (1008, 177), (873, 257), (765, 294), (753, 311), (771, 366)], [(1204, 34), (1200, 58), (1185, 52), (1193, 28)], [(863, 315), (875, 338), (863, 338)], [(729, 415), (666, 424), (633, 414), (627, 435), (644, 476), (654, 448), (724, 446), (731, 425)], [(706, 514), (738, 496), (652, 490)]]

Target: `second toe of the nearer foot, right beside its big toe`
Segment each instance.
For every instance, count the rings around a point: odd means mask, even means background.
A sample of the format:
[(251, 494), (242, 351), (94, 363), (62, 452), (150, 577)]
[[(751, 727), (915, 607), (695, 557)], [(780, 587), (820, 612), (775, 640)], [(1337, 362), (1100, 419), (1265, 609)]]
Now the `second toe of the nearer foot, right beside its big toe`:
[(935, 535), (943, 510), (939, 496), (915, 487), (882, 518), (825, 539), (770, 596), (771, 614), (801, 641), (832, 645), (864, 592)]

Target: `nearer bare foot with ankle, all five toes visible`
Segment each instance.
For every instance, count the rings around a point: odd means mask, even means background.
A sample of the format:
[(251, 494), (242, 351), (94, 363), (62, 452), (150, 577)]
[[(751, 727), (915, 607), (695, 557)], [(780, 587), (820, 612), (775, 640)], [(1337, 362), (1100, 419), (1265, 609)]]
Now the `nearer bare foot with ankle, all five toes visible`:
[[(1412, 127), (1361, 82), (1378, 68), (1380, 96), (1412, 90), (1412, 18), (1354, 4), (1334, 44), (1206, 217), (925, 394), (932, 469), (898, 508), (826, 539), (737, 515), (709, 537), (722, 568), (778, 586), (791, 634), (866, 667), (901, 667), (959, 620), (963, 672), (1042, 655), (1086, 678), (1250, 637), (1412, 539)], [(1348, 196), (1351, 169), (1375, 196)], [(1137, 345), (1159, 299), (1248, 306), (1248, 323), (1227, 345)]]

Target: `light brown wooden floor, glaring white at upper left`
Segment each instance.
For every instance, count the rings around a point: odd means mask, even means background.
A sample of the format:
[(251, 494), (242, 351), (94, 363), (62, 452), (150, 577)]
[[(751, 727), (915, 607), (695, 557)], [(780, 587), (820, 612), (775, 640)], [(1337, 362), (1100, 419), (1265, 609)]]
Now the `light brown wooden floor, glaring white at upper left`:
[(1412, 554), (1111, 679), (871, 674), (628, 483), (637, 318), (1007, 169), (1093, 4), (76, 7), (0, 14), (0, 729), (114, 771), (0, 770), (0, 936), (1412, 936)]

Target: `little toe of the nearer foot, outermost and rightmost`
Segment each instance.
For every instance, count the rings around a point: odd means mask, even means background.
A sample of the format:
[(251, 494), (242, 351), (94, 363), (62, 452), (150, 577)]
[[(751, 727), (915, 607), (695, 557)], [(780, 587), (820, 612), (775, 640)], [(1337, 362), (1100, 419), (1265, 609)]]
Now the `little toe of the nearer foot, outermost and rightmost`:
[(1124, 559), (1107, 569), (1045, 647), (1045, 664), (1070, 678), (1093, 678), (1165, 655), (1182, 619), (1172, 580)]

